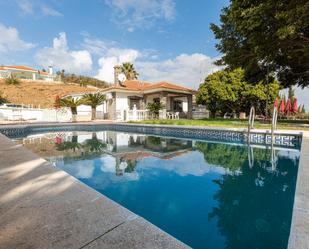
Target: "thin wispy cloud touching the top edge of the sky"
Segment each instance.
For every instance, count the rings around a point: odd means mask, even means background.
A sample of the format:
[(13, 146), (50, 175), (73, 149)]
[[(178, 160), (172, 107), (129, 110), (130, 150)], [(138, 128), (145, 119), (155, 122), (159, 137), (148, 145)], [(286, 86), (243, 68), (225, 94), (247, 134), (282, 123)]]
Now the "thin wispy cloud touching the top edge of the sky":
[(175, 18), (174, 0), (105, 0), (113, 9), (115, 21), (133, 32), (135, 28), (148, 28), (155, 21)]

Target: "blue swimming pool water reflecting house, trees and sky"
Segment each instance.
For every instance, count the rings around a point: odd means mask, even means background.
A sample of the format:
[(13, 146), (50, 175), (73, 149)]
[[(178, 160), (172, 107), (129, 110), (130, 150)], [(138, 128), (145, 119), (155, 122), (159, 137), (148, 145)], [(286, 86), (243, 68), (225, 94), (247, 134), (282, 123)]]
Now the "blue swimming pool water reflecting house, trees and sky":
[(287, 248), (297, 150), (114, 131), (20, 143), (193, 248)]

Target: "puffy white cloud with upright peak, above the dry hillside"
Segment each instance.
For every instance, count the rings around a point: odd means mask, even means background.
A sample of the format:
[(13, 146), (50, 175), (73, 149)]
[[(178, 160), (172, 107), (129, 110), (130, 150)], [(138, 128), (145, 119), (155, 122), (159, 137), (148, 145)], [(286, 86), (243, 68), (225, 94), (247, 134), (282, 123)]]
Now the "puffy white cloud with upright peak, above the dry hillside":
[(92, 69), (90, 53), (87, 50), (71, 51), (64, 32), (59, 33), (59, 37), (54, 38), (52, 47), (39, 50), (35, 58), (41, 66), (52, 65), (70, 73), (81, 73)]

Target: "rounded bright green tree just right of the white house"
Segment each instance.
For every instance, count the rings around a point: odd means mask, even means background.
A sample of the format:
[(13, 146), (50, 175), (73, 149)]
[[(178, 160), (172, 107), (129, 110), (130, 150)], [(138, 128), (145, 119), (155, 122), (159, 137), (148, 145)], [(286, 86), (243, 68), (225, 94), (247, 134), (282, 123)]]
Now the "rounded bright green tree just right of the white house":
[(276, 81), (266, 86), (262, 82), (253, 85), (245, 81), (244, 70), (226, 69), (207, 76), (199, 87), (196, 101), (207, 105), (212, 117), (216, 112), (248, 112), (252, 105), (257, 113), (264, 113), (266, 102), (273, 103), (278, 93), (279, 84)]

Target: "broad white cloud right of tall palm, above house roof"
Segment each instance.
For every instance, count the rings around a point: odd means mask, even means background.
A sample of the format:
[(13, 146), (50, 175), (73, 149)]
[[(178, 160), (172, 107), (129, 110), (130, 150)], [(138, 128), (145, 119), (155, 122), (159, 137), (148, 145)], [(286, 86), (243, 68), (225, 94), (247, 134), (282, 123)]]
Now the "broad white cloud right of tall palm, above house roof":
[(197, 89), (208, 74), (220, 69), (213, 64), (215, 60), (200, 53), (181, 54), (163, 61), (137, 61), (136, 69), (143, 80), (169, 81)]

